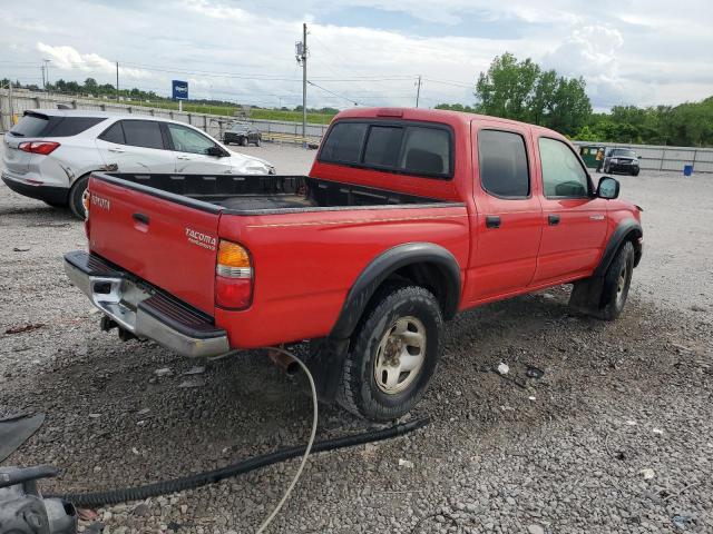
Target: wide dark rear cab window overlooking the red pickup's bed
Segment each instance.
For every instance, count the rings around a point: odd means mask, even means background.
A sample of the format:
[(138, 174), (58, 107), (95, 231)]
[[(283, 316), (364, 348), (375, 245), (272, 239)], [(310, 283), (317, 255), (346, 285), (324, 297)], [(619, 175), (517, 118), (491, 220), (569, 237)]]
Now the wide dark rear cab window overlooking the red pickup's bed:
[(385, 172), (451, 178), (453, 136), (446, 125), (342, 120), (330, 129), (320, 162)]

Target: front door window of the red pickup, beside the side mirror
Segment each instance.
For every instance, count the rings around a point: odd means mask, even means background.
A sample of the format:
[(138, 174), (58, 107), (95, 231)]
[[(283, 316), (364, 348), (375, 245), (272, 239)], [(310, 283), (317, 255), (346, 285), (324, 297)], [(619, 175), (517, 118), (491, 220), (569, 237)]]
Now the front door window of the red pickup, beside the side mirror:
[(589, 196), (587, 172), (567, 145), (556, 139), (540, 137), (539, 158), (546, 197), (585, 198)]

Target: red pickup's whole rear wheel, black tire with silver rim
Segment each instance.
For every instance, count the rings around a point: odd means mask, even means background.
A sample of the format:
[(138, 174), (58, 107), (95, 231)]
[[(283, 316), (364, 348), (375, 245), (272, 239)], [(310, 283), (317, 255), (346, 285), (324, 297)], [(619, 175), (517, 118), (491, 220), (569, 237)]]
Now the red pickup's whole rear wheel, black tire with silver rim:
[[(424, 347), (418, 349), (422, 354), (417, 355), (421, 359), (418, 368), (399, 373), (394, 370), (398, 380), (395, 388), (403, 387), (403, 389), (385, 393), (384, 385), (377, 384), (374, 376), (378, 358), (383, 359), (389, 349), (394, 349), (400, 352), (397, 359), (401, 362), (401, 358), (410, 359), (413, 354), (411, 349), (416, 349), (411, 345), (389, 346), (389, 340), (398, 336), (394, 334), (398, 328), (397, 323), (406, 323), (404, 334), (409, 335), (418, 333), (419, 328), (423, 327), (426, 339), (421, 338), (420, 343)], [(420, 326), (412, 330), (414, 323), (419, 323)], [(408, 286), (384, 290), (377, 306), (356, 327), (352, 348), (344, 363), (336, 402), (352, 414), (371, 421), (392, 421), (404, 415), (420, 400), (436, 370), (442, 326), (441, 308), (428, 289)], [(387, 348), (382, 349), (384, 342)], [(388, 358), (384, 359), (387, 360)], [(385, 365), (390, 366), (388, 363)], [(398, 370), (400, 369), (401, 364), (398, 367)], [(402, 378), (404, 374), (407, 376)], [(382, 376), (383, 380), (385, 378)]]

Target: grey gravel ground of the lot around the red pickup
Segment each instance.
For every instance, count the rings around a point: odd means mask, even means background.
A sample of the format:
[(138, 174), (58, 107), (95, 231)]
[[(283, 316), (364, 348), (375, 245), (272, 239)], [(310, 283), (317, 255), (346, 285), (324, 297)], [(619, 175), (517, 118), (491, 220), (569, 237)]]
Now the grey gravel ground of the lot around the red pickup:
[[(314, 156), (243, 150), (284, 174)], [(575, 314), (567, 288), (461, 314), (412, 414), (431, 424), (311, 457), (270, 532), (713, 531), (713, 177), (621, 180), (646, 239), (624, 316)], [(47, 492), (96, 491), (306, 441), (306, 384), (258, 354), (196, 363), (100, 333), (61, 270), (84, 247), (67, 212), (0, 186), (0, 416), (47, 414), (3, 465), (51, 463), (62, 474)], [(22, 325), (38, 327), (7, 334)], [(500, 362), (517, 383), (489, 372)], [(184, 375), (194, 365), (205, 372)], [(321, 407), (318, 438), (368, 427)], [(111, 533), (254, 532), (296, 466), (97, 512)]]

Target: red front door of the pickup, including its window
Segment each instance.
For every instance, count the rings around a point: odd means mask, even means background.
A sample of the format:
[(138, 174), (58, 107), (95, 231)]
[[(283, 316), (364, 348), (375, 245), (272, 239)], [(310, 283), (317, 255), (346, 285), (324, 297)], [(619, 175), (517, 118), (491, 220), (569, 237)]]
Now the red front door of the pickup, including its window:
[(539, 137), (543, 177), (543, 243), (534, 285), (585, 277), (602, 256), (607, 233), (606, 200), (582, 160), (558, 139)]

